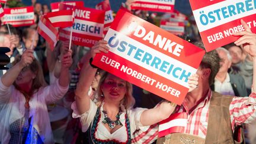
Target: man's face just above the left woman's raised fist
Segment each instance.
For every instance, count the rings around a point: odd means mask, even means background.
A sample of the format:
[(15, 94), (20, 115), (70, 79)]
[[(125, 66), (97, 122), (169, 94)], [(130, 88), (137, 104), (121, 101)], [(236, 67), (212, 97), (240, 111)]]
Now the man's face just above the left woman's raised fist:
[[(34, 43), (33, 43), (33, 39), (34, 39)], [(39, 41), (39, 36), (36, 30), (30, 30), (28, 37), (27, 38), (23, 37), (23, 42), (27, 49), (31, 49), (31, 46), (33, 46), (32, 49), (34, 49), (37, 46), (38, 41)]]

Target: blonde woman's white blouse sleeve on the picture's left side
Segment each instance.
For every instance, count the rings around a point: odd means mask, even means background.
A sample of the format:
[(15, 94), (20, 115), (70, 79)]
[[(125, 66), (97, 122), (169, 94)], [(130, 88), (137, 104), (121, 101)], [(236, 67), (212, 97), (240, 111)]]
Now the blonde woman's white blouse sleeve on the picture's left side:
[(72, 117), (80, 119), (80, 122), (82, 125), (82, 132), (86, 132), (89, 128), (89, 125), (91, 124), (92, 120), (95, 117), (95, 114), (97, 112), (97, 105), (90, 100), (89, 110), (83, 114), (78, 113), (75, 101), (72, 103), (71, 108), (73, 110)]

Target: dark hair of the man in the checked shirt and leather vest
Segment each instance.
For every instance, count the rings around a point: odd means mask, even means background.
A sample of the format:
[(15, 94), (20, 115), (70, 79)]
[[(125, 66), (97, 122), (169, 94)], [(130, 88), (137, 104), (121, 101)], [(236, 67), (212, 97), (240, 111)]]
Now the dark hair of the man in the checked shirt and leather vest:
[[(205, 49), (203, 43), (194, 42), (193, 44), (201, 49)], [(204, 54), (200, 63), (200, 68), (210, 68), (209, 85), (212, 85), (220, 68), (220, 57), (216, 50), (212, 50)]]

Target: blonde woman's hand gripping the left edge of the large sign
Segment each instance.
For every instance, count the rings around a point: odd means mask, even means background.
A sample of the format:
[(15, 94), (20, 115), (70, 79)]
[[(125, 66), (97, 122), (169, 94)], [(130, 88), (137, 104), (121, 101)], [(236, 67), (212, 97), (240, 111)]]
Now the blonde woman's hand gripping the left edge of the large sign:
[(107, 41), (105, 40), (100, 40), (98, 43), (96, 43), (92, 48), (91, 48), (91, 56), (94, 58), (94, 56), (97, 53), (104, 52), (108, 53), (109, 47), (106, 46)]

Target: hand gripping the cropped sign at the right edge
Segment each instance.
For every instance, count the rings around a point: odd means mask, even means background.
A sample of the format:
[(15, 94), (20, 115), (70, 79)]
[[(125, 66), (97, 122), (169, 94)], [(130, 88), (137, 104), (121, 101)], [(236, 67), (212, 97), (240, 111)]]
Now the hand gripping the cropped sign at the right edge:
[(251, 29), (244, 20), (241, 20), (241, 23), (244, 26), (245, 31), (233, 34), (234, 36), (242, 36), (234, 43), (236, 46), (243, 45), (245, 52), (252, 57), (256, 57), (256, 34), (252, 33)]

